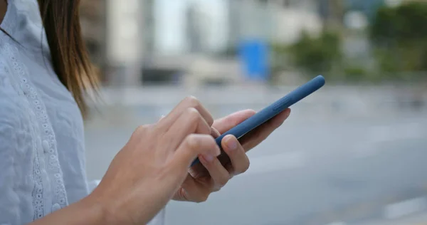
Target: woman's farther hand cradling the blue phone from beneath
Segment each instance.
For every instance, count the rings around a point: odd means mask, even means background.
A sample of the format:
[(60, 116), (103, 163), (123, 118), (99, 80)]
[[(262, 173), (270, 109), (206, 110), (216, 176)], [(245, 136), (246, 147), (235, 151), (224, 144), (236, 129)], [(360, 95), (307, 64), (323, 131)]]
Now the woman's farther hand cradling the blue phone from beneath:
[[(218, 137), (254, 114), (253, 110), (243, 110), (215, 120), (211, 130), (212, 136)], [(241, 142), (232, 135), (224, 137), (221, 146), (226, 154), (218, 158), (199, 157), (201, 164), (189, 169), (189, 174), (173, 199), (189, 202), (206, 201), (212, 192), (221, 189), (233, 176), (246, 172), (249, 167), (246, 152), (265, 140), (289, 115), (290, 110), (285, 110), (243, 136)]]

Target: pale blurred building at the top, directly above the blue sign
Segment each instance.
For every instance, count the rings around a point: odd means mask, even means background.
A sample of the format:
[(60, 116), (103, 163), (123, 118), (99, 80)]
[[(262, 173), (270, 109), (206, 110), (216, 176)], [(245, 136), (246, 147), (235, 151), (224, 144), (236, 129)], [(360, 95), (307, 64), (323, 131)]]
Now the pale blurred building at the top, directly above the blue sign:
[(229, 0), (229, 45), (245, 38), (292, 43), (302, 31), (320, 31), (316, 0)]

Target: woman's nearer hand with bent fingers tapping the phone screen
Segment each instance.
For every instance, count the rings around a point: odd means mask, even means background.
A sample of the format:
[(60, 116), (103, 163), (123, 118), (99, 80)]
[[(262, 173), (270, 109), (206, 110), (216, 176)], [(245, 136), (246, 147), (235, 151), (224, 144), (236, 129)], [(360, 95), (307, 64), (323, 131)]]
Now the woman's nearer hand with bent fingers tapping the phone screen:
[[(198, 100), (186, 98), (156, 124), (138, 127), (90, 198), (105, 206), (113, 224), (146, 224), (188, 179), (196, 157), (220, 154), (213, 122)], [(221, 179), (224, 170), (215, 170)]]

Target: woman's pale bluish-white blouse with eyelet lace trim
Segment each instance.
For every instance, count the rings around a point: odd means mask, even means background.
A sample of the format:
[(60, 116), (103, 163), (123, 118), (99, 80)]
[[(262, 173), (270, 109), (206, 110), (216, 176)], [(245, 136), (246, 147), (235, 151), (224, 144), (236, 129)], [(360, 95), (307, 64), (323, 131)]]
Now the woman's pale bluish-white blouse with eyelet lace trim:
[(15, 39), (0, 31), (0, 224), (26, 224), (89, 194), (83, 119), (51, 66), (37, 1), (8, 0), (0, 26)]

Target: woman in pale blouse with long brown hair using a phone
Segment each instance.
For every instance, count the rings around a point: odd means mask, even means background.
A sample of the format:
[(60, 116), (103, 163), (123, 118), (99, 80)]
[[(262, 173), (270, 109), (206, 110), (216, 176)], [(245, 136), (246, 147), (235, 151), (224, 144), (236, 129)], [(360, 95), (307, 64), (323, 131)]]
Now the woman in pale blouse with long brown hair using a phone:
[[(90, 192), (83, 95), (96, 88), (78, 0), (0, 0), (0, 224), (147, 224), (170, 199), (204, 202), (248, 169), (246, 151), (290, 110), (246, 135), (214, 137), (253, 115), (213, 120), (186, 98), (139, 126)], [(201, 164), (188, 169), (199, 157)]]

